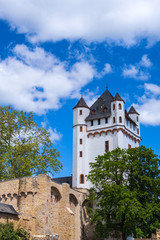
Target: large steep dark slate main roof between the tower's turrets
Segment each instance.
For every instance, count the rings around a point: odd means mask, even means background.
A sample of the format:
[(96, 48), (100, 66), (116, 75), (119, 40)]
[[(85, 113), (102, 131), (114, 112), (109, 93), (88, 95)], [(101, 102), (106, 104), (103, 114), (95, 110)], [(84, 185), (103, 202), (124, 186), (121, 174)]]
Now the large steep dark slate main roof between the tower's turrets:
[[(105, 118), (111, 115), (111, 101), (113, 100), (112, 94), (106, 89), (106, 91), (95, 101), (90, 107), (90, 114), (86, 118), (86, 121)], [(105, 110), (104, 110), (105, 109)], [(92, 115), (92, 110), (95, 113)]]

